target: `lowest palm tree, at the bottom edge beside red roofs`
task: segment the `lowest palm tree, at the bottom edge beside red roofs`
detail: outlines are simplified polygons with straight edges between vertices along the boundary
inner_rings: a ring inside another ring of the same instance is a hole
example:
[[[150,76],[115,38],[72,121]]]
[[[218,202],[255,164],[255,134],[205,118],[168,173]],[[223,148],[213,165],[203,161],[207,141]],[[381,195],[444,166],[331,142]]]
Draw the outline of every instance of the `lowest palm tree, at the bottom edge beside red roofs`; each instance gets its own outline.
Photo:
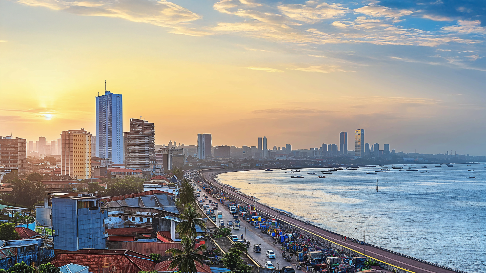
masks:
[[[180,224],[179,224],[180,225]],[[169,269],[180,271],[184,273],[197,273],[196,262],[203,264],[206,256],[200,254],[206,250],[206,244],[201,244],[194,248],[194,240],[185,235],[181,238],[182,250],[178,248],[171,248],[165,251],[166,254],[171,254]]]

